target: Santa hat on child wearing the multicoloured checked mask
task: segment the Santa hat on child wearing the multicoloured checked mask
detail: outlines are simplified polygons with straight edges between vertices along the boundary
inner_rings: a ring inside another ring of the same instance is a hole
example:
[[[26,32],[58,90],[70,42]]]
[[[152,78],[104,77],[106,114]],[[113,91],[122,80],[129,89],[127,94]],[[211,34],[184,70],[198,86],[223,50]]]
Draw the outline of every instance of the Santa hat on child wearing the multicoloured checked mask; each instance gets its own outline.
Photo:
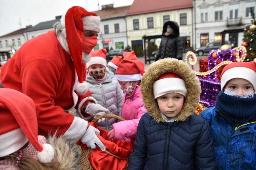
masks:
[[[90,61],[86,63],[87,69],[93,64],[101,64],[107,67],[106,53],[105,49],[91,51]]]

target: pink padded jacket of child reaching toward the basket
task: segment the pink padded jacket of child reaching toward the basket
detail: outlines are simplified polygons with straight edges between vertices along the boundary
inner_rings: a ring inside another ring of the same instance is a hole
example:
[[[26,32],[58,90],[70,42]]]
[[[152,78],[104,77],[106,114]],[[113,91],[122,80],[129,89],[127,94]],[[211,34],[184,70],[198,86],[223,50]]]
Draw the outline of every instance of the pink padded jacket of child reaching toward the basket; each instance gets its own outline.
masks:
[[[124,95],[122,102],[121,117],[125,121],[113,124],[115,130],[115,138],[122,140],[126,137],[135,137],[137,134],[137,126],[141,116],[147,112],[141,100],[140,86],[136,85],[130,96]]]

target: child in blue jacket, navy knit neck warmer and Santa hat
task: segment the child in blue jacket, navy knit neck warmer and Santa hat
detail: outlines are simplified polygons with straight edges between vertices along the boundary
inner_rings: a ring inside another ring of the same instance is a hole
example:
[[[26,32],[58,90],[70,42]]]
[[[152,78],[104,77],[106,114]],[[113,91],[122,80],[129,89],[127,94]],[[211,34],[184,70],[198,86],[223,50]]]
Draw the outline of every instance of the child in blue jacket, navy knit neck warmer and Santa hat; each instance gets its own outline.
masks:
[[[256,169],[255,89],[254,61],[228,64],[216,106],[200,114],[210,124],[219,170]]]

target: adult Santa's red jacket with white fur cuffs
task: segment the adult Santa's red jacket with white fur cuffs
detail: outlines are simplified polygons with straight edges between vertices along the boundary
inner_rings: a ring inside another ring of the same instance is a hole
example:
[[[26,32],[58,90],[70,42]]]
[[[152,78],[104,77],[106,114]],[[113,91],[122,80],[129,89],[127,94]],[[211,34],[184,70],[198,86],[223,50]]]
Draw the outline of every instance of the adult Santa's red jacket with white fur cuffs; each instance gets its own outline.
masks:
[[[85,80],[86,72],[83,75]],[[90,92],[79,95],[74,91],[74,64],[53,31],[25,42],[1,67],[0,79],[4,88],[18,90],[34,100],[39,135],[57,131],[74,143],[85,133],[88,122],[67,111],[74,107],[81,110],[93,98]]]

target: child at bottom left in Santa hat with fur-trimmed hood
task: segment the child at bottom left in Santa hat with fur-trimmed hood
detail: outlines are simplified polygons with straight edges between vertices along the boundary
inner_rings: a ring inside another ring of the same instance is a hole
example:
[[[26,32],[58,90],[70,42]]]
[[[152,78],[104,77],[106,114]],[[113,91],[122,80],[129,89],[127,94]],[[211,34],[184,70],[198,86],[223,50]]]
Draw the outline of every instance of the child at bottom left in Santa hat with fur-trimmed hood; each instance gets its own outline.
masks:
[[[0,88],[0,124],[0,170],[79,168],[78,148],[64,138],[37,136],[35,104],[25,94]]]

